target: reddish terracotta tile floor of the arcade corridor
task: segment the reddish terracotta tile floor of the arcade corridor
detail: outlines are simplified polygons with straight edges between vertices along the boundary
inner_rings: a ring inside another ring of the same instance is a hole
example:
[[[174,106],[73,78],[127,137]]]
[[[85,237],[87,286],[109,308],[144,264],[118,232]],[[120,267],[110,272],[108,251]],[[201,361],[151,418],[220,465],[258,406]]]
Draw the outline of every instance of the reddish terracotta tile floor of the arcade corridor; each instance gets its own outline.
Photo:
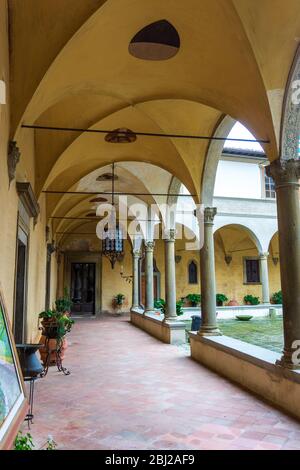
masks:
[[[36,384],[37,446],[51,434],[60,449],[300,449],[300,423],[128,318],[79,320],[69,343],[71,375]]]

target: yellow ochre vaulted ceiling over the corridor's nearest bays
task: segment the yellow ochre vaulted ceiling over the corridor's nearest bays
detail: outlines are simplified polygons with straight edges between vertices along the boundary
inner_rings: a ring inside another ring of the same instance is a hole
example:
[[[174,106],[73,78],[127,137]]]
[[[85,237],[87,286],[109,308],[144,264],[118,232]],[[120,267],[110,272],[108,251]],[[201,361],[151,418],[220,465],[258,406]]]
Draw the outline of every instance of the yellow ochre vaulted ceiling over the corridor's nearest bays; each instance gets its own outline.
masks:
[[[132,38],[163,19],[179,34],[177,54],[133,57]],[[9,20],[12,137],[34,139],[37,195],[73,188],[112,161],[136,161],[175,175],[199,199],[209,141],[111,144],[103,134],[22,123],[211,136],[230,115],[278,158],[278,96],[299,43],[298,0],[10,0]],[[60,198],[51,201],[55,210]]]

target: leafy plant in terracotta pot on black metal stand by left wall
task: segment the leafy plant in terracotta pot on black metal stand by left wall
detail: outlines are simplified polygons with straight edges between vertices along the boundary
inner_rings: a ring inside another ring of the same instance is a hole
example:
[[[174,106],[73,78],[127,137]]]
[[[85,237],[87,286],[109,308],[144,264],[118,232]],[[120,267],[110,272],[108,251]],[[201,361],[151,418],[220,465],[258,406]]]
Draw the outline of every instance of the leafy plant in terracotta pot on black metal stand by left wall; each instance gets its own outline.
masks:
[[[72,320],[68,314],[58,312],[56,310],[46,310],[41,312],[39,314],[39,318],[41,319],[42,324],[42,336],[39,343],[44,345],[44,347],[40,349],[41,360],[45,366],[48,356],[48,347],[52,351],[50,354],[50,365],[55,364],[55,350],[57,348],[60,348],[61,359],[65,356],[65,350],[67,349],[65,336],[71,331],[74,320]]]

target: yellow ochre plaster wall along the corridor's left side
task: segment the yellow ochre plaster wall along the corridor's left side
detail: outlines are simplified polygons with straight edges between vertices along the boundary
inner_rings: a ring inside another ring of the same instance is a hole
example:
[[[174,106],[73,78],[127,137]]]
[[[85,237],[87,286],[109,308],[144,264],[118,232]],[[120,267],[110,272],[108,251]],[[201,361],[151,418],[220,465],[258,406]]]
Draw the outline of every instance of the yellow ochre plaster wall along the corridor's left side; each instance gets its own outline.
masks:
[[[8,16],[7,2],[0,1],[0,79],[6,84],[6,104],[0,105],[0,284],[7,306],[8,316],[13,323],[15,263],[18,220],[18,194],[16,181],[28,181],[35,188],[35,152],[34,134],[32,131],[20,131],[17,136],[10,135],[10,90],[9,90],[9,57],[8,57]],[[17,165],[16,178],[9,186],[7,171],[7,149],[9,140],[17,140],[21,152]],[[28,286],[27,286],[27,335],[25,341],[36,341],[40,336],[37,315],[45,308],[46,286],[46,220],[45,201],[39,199],[40,215],[34,226],[30,220],[28,250]],[[56,277],[55,255],[52,255],[52,282]],[[56,296],[56,288],[51,289],[51,300]]]

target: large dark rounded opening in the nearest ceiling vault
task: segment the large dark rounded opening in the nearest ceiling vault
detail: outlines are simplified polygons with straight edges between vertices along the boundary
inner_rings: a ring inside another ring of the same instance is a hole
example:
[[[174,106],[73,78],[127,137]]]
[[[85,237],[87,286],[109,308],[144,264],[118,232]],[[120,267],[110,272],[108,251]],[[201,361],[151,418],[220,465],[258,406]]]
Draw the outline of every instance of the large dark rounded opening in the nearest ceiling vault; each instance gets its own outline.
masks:
[[[171,59],[179,48],[179,34],[167,20],[155,21],[145,26],[129,44],[130,54],[145,60]]]

